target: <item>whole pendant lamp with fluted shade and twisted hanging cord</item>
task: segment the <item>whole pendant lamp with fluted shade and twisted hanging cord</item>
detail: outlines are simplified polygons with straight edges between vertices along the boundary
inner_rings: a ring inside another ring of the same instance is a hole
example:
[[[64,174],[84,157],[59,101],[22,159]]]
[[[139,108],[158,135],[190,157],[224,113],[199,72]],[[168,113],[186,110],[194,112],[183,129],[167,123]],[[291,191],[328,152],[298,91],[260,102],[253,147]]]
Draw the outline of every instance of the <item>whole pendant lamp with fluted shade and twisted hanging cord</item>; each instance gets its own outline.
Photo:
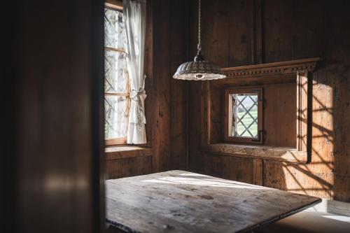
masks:
[[[214,80],[226,78],[221,73],[220,66],[217,64],[207,62],[202,53],[201,47],[201,0],[198,1],[198,46],[197,55],[193,62],[185,62],[179,66],[173,78],[181,80]]]

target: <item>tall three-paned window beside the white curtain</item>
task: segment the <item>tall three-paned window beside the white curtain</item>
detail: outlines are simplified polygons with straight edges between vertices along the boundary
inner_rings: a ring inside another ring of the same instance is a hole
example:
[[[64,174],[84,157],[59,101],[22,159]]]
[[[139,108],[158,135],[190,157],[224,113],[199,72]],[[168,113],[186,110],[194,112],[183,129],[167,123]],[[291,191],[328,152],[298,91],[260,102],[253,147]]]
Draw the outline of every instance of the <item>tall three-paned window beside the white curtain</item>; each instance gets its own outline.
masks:
[[[104,10],[104,108],[106,145],[126,143],[130,112],[130,79],[127,73],[123,13]]]

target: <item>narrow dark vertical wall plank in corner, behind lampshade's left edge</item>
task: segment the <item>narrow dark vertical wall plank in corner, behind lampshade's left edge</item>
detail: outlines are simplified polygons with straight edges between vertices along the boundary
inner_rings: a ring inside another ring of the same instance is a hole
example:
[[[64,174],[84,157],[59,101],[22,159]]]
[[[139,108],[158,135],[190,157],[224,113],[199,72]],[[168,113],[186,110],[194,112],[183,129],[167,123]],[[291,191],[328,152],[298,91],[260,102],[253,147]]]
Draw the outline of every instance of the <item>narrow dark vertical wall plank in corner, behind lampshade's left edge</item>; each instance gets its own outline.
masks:
[[[187,141],[188,141],[188,83],[172,78],[179,64],[188,59],[188,15],[187,6],[183,1],[170,1],[170,70],[169,79],[171,81],[170,95],[170,132],[171,132],[171,158],[170,169],[186,169]],[[181,12],[186,17],[179,17]],[[179,49],[181,48],[181,49]],[[173,72],[173,73],[172,73]]]

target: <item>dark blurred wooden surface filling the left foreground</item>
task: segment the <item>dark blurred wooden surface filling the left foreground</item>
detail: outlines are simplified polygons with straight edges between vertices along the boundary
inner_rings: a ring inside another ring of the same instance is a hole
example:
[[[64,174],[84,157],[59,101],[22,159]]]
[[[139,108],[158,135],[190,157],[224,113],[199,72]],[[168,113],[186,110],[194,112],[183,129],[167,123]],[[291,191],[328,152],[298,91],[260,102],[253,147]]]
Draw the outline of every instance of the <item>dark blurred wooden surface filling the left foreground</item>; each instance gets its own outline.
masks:
[[[1,6],[1,232],[104,228],[103,4]]]

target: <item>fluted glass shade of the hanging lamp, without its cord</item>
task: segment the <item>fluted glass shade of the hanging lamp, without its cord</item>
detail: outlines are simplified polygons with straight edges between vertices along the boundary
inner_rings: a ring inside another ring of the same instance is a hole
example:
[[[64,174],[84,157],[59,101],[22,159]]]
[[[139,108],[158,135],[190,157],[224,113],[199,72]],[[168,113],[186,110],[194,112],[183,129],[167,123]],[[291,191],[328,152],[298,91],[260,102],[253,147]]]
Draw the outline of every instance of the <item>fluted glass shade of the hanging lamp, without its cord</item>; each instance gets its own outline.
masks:
[[[173,78],[181,80],[214,80],[226,78],[218,65],[204,60],[185,62],[179,66]]]

